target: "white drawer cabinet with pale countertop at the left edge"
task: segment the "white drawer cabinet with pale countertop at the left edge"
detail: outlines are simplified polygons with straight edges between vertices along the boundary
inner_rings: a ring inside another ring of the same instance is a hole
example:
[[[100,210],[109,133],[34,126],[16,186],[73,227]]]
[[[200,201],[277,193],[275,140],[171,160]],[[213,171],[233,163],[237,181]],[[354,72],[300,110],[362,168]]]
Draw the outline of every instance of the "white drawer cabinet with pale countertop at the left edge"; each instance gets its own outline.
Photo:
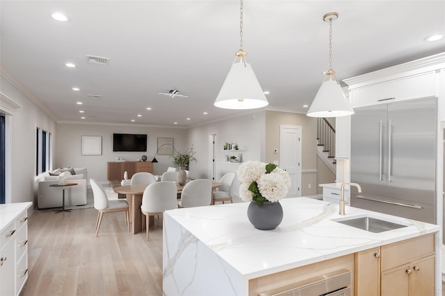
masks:
[[[19,295],[28,279],[27,209],[31,205],[0,205],[0,295]]]

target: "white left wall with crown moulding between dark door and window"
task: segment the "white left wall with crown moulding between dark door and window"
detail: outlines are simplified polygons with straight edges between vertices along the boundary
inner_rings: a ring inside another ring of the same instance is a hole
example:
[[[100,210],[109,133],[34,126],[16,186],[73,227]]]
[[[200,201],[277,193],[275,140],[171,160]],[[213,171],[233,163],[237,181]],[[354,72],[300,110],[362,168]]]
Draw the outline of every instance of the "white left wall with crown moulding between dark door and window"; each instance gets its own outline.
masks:
[[[30,101],[18,87],[0,76],[0,92],[22,105],[12,117],[12,148],[10,168],[10,197],[7,202],[35,202],[35,130],[37,127],[53,134],[56,122]],[[1,107],[0,107],[1,109]],[[8,145],[8,143],[7,143]]]

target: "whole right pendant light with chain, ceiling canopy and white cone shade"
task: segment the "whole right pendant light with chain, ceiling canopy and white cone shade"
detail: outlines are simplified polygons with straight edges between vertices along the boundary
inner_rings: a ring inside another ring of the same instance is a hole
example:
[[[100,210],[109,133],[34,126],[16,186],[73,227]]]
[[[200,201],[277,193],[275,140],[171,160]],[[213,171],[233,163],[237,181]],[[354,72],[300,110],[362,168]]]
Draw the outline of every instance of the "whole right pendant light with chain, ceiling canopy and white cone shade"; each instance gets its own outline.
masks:
[[[307,116],[339,117],[354,114],[353,107],[346,100],[335,71],[332,70],[332,21],[338,17],[337,12],[330,12],[323,16],[323,21],[329,21],[329,70],[325,73],[323,83],[307,111]]]

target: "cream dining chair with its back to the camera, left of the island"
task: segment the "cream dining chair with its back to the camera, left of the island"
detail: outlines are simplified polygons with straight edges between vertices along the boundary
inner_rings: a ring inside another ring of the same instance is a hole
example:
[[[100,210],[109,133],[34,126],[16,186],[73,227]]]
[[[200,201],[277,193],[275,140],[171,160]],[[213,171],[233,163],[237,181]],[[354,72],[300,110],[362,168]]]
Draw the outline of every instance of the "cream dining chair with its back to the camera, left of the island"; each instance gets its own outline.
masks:
[[[142,195],[142,205],[140,210],[147,216],[147,241],[149,216],[163,216],[163,212],[168,209],[177,209],[177,186],[175,182],[161,181],[150,184]]]

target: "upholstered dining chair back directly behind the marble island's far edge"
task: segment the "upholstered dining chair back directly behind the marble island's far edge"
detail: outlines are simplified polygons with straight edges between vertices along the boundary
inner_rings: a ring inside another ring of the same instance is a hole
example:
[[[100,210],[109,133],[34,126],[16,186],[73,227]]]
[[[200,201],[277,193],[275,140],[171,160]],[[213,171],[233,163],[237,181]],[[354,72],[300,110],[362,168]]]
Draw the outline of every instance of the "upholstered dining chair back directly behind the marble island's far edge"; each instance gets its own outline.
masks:
[[[191,180],[184,185],[179,207],[201,207],[211,204],[211,181],[207,179]]]

